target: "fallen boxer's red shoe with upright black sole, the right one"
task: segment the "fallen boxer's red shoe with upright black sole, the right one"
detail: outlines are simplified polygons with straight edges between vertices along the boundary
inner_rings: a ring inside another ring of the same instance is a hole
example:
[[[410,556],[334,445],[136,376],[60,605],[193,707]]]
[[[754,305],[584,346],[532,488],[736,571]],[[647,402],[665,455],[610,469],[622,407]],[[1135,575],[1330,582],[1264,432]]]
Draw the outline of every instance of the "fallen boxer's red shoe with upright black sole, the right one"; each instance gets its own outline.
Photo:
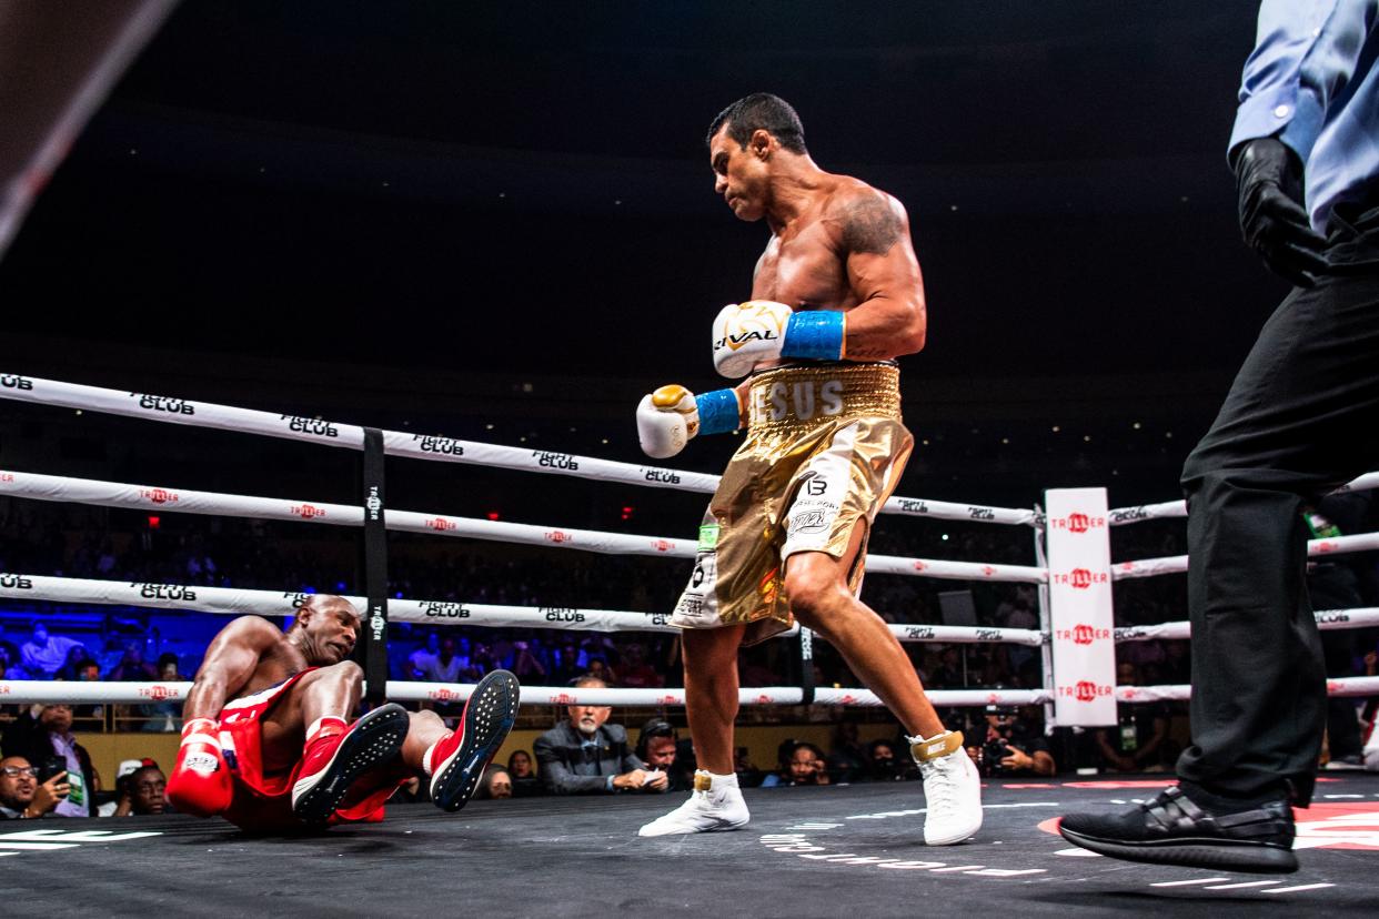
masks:
[[[459,727],[432,750],[430,792],[437,807],[455,812],[469,803],[484,766],[517,721],[520,692],[517,678],[506,670],[495,670],[474,686]]]

